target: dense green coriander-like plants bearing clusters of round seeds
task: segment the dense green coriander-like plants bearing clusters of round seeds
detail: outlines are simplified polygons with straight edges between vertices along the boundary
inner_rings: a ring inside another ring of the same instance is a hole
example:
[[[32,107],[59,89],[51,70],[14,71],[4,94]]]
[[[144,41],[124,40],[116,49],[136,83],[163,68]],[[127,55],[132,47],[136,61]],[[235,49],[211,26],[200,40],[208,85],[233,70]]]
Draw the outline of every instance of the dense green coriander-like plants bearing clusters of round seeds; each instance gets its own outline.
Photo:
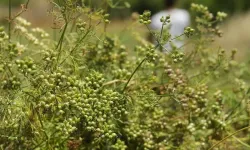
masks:
[[[173,45],[162,53],[178,37],[150,32],[156,45],[135,36],[130,49],[105,32],[106,8],[51,4],[58,39],[20,17],[13,31],[0,30],[1,149],[209,149],[217,142],[226,149],[228,133],[248,128],[248,66],[234,60],[235,50],[210,48],[225,13],[193,4],[196,26],[178,36],[189,38],[191,52]],[[148,26],[150,15],[134,26]],[[161,19],[164,31],[170,17]],[[230,148],[249,146],[249,137],[238,140]]]

